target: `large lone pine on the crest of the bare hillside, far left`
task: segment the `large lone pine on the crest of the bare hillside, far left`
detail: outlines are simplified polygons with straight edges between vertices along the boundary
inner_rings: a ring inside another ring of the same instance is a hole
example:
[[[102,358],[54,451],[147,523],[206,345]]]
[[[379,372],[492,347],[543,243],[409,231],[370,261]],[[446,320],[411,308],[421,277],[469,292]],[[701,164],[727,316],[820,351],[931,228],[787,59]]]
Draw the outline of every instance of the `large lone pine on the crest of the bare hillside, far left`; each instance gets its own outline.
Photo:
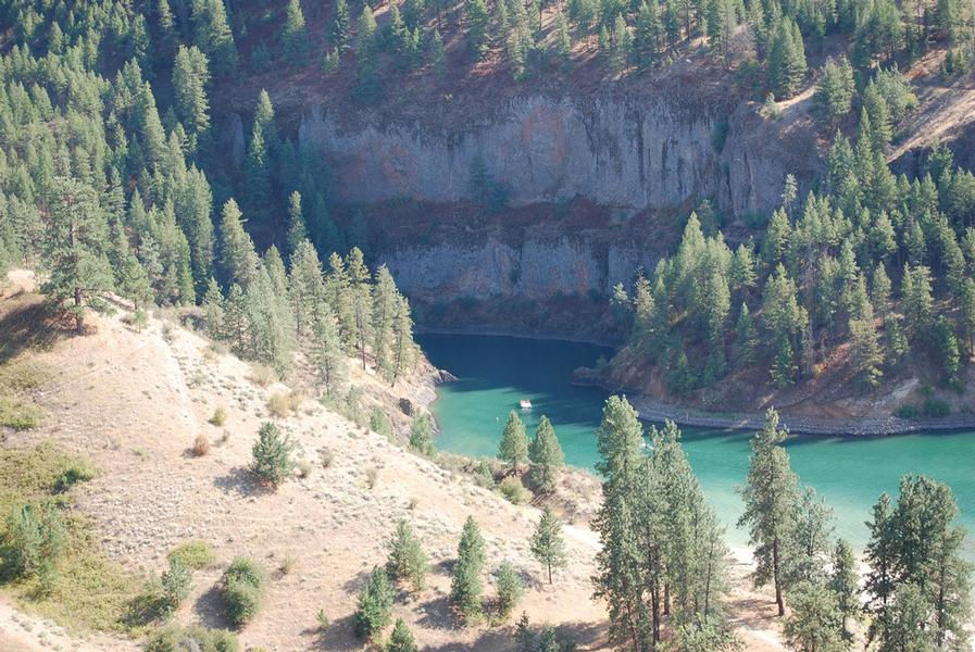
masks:
[[[42,291],[57,305],[71,301],[66,310],[82,334],[85,308],[100,308],[99,294],[112,289],[105,216],[89,186],[54,177],[47,217],[42,253],[50,273]]]

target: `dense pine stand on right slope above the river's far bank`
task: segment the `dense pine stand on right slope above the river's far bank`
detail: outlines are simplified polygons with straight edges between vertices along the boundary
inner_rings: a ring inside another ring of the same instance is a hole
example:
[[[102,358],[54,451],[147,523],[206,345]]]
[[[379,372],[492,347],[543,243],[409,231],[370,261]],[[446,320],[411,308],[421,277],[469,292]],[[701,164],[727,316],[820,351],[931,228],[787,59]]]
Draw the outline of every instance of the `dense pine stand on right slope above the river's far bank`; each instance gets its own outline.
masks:
[[[787,387],[848,343],[864,390],[922,361],[961,388],[975,352],[975,176],[943,147],[920,178],[895,176],[885,152],[913,96],[891,71],[863,98],[855,140],[837,134],[804,201],[786,178],[759,247],[733,250],[704,202],[674,255],[632,292],[616,286],[612,310],[629,340],[614,363],[659,368],[674,394],[757,366]]]

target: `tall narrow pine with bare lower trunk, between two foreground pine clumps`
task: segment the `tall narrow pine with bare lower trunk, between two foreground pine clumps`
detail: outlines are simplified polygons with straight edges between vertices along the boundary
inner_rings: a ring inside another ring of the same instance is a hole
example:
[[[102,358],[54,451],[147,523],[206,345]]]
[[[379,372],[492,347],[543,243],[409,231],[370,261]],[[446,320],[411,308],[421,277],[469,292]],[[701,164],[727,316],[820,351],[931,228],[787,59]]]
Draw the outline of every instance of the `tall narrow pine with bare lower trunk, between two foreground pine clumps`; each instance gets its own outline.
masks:
[[[788,431],[778,427],[778,414],[770,408],[764,429],[752,438],[748,478],[740,490],[745,513],[738,519],[739,527],[749,527],[750,543],[754,547],[755,586],[773,584],[779,616],[785,615],[783,567],[788,554],[785,547],[798,491],[789,455],[782,447],[786,437]]]

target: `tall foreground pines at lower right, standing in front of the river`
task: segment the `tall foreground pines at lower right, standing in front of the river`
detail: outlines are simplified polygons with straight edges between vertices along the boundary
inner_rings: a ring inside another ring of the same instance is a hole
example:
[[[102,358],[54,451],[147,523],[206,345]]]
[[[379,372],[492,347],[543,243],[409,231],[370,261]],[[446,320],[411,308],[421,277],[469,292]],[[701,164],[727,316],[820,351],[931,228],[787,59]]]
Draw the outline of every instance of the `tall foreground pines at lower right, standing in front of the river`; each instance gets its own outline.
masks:
[[[834,538],[833,512],[802,487],[770,410],[752,438],[739,492],[755,587],[771,587],[785,642],[800,652],[850,650],[855,622],[883,652],[960,650],[967,644],[972,570],[951,489],[904,476],[899,496],[880,496],[868,523],[862,582],[850,544]],[[602,543],[593,577],[609,606],[611,636],[635,652],[740,648],[723,603],[728,589],[724,529],[708,505],[673,423],[649,432],[636,411],[611,397],[597,430],[603,502],[593,523]],[[667,626],[668,640],[662,636]]]

